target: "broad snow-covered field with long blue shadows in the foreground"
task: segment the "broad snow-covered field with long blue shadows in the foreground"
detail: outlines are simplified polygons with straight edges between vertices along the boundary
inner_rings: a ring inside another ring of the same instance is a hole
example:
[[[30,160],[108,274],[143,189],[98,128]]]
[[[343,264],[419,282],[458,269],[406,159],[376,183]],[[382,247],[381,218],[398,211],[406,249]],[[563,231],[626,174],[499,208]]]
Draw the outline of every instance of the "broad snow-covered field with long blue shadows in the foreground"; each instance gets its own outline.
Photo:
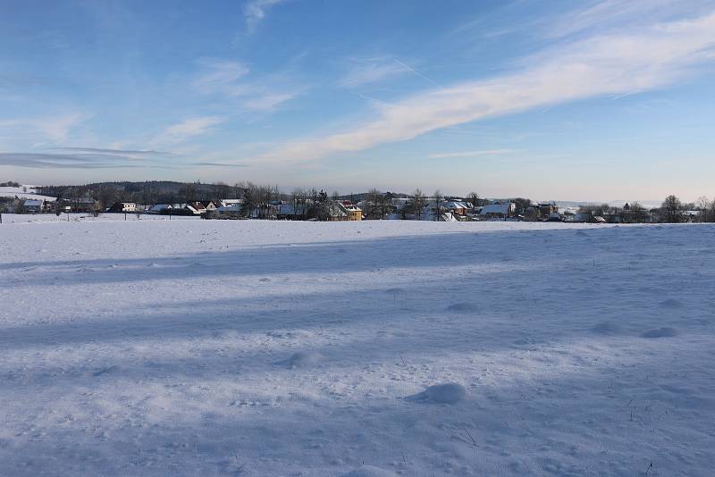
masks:
[[[2,475],[715,472],[711,226],[55,219],[0,225]]]

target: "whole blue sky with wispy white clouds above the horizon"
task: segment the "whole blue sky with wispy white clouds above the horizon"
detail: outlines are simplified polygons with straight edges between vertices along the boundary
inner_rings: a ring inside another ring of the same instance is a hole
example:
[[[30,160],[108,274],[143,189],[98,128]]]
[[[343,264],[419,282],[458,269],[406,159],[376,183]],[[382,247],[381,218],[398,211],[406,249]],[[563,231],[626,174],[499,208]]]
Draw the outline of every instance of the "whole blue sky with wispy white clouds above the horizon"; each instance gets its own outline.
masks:
[[[0,180],[715,196],[715,1],[0,4]]]

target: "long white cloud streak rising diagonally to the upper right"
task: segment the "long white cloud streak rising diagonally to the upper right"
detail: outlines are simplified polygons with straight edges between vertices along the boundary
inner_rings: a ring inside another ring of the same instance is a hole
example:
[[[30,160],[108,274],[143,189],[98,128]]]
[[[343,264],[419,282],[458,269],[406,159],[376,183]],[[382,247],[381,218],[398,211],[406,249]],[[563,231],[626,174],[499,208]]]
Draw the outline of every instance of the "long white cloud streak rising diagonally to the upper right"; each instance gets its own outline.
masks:
[[[586,38],[536,54],[516,73],[380,105],[373,121],[345,132],[290,142],[255,160],[311,161],[534,107],[662,88],[711,60],[713,46],[715,13],[652,25],[637,33]]]

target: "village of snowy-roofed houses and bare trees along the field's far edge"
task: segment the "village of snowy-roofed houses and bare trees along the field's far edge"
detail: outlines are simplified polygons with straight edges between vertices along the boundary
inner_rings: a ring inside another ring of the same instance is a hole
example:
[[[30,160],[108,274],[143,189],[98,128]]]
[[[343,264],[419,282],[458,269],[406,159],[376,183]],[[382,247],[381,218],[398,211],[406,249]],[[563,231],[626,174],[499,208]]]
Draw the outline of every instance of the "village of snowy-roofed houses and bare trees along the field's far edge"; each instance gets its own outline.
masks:
[[[12,185],[8,185],[12,184]],[[51,189],[52,190],[52,189]],[[57,189],[55,189],[57,190]],[[62,194],[64,189],[59,189]],[[72,190],[72,188],[69,188]],[[417,189],[411,195],[379,192],[331,197],[324,190],[294,189],[282,194],[277,188],[255,186],[214,188],[216,196],[205,200],[141,203],[130,200],[108,201],[98,194],[81,197],[52,197],[46,188],[21,186],[13,182],[0,185],[0,213],[123,213],[125,216],[164,215],[200,217],[206,220],[280,220],[342,222],[362,220],[408,220],[433,222],[581,222],[581,223],[657,223],[713,222],[715,208],[705,198],[698,204],[683,204],[670,196],[660,207],[646,208],[638,202],[618,205],[585,203],[563,206],[558,202],[532,202],[525,198],[489,199],[472,192],[467,197],[444,196],[435,191],[426,196]],[[220,198],[219,194],[233,198]],[[205,196],[206,196],[205,195]],[[175,197],[172,197],[175,198]],[[126,217],[125,217],[126,218]]]

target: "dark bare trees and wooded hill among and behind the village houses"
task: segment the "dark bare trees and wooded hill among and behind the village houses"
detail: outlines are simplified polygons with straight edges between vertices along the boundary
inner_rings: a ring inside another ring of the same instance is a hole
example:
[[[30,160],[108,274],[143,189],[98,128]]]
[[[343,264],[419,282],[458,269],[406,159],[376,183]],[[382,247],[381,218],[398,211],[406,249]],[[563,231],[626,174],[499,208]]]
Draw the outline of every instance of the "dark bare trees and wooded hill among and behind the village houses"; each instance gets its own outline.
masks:
[[[5,187],[21,187],[18,182],[6,181],[0,184]],[[293,188],[290,193],[283,193],[278,186],[255,184],[241,181],[233,185],[224,182],[211,184],[175,181],[144,181],[144,182],[101,182],[79,186],[45,186],[38,188],[38,194],[57,197],[72,203],[80,199],[93,199],[104,210],[115,202],[134,202],[142,205],[183,204],[190,202],[213,201],[218,204],[222,199],[242,199],[241,209],[247,216],[267,218],[271,213],[271,205],[276,203],[289,204],[295,213],[307,218],[320,218],[327,213],[329,198],[332,200],[349,199],[360,202],[363,214],[368,219],[385,219],[393,213],[399,213],[400,218],[421,220],[425,207],[431,207],[435,220],[439,220],[444,212],[444,204],[450,200],[464,200],[474,207],[487,204],[489,201],[470,192],[465,197],[445,196],[437,189],[431,195],[416,188],[411,194],[381,192],[371,188],[366,193],[341,196],[337,191],[330,197],[324,190],[316,188]],[[395,205],[395,199],[402,199],[400,207]],[[538,205],[531,199],[517,197],[509,199],[515,204],[516,214],[525,220],[538,220]],[[692,216],[688,211],[696,211]],[[663,200],[660,207],[647,209],[638,202],[629,205],[629,210],[608,204],[582,205],[578,213],[588,216],[614,216],[627,213],[629,222],[715,222],[715,200],[700,197],[694,203],[683,203],[678,197],[670,195]]]

